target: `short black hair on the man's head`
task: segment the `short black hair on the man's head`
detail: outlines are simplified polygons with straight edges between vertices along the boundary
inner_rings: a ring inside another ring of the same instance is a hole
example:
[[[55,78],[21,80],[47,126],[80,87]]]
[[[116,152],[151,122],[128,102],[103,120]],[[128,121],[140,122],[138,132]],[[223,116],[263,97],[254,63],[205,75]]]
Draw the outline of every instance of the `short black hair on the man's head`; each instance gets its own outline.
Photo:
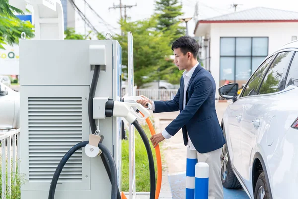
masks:
[[[187,52],[191,52],[195,58],[198,56],[199,44],[190,36],[182,36],[174,41],[172,44],[172,50],[176,48],[180,48],[183,55],[186,55]]]

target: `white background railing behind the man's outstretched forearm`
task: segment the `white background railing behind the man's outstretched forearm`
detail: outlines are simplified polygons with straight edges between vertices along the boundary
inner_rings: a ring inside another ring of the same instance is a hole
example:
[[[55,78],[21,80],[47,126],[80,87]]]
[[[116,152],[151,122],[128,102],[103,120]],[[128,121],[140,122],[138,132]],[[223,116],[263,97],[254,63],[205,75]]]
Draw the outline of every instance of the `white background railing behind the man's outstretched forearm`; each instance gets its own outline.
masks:
[[[173,100],[178,89],[136,89],[136,96],[143,95],[151,100]]]

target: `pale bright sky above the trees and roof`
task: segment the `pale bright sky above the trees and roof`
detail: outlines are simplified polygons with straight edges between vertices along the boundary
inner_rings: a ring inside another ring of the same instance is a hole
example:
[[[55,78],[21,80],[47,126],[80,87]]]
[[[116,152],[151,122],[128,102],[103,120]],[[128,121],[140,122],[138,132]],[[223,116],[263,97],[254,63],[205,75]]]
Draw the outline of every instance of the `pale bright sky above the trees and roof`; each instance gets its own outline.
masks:
[[[104,34],[120,33],[120,26],[118,20],[120,19],[120,9],[109,9],[113,4],[119,5],[119,0],[86,0],[90,6],[98,13],[98,15],[105,21],[103,22],[96,16],[88,7],[85,8],[83,0],[75,0],[75,3],[80,10],[86,15],[87,19],[92,23],[98,32]],[[131,21],[142,20],[149,18],[154,13],[155,0],[121,0],[123,5],[136,5],[127,9],[127,16]],[[182,18],[194,17],[195,4],[198,2],[199,19],[219,16],[223,14],[233,13],[234,8],[232,4],[239,4],[237,11],[250,9],[253,7],[268,7],[275,9],[283,9],[298,12],[298,2],[295,0],[180,0],[183,5],[184,15]],[[124,16],[124,9],[122,10]],[[85,23],[81,17],[76,14],[75,17],[76,31],[85,33]],[[191,36],[195,29],[195,21],[192,19],[188,22],[188,31]],[[87,27],[86,31],[90,30]]]

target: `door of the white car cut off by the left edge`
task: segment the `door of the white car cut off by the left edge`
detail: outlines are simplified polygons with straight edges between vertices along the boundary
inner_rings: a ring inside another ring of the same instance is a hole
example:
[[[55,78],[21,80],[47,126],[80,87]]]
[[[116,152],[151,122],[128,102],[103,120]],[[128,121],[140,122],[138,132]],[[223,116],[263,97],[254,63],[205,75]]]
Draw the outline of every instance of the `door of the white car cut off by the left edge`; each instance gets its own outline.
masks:
[[[0,83],[2,91],[8,90],[7,87]],[[0,95],[0,130],[11,129],[14,119],[14,97],[9,95]]]

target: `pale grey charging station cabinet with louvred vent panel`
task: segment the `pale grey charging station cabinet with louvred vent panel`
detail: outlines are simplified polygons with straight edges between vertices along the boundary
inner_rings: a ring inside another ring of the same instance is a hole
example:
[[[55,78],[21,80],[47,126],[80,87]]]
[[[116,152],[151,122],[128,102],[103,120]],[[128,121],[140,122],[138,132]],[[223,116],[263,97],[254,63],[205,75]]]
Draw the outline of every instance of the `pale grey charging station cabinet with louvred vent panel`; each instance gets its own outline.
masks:
[[[116,40],[20,40],[20,173],[22,199],[47,199],[62,157],[89,140],[88,98],[94,65],[100,64],[95,97],[121,99],[121,46]],[[93,100],[93,99],[92,99]],[[121,124],[96,120],[112,153],[121,190]],[[108,199],[111,183],[100,156],[83,149],[68,160],[55,199]]]

